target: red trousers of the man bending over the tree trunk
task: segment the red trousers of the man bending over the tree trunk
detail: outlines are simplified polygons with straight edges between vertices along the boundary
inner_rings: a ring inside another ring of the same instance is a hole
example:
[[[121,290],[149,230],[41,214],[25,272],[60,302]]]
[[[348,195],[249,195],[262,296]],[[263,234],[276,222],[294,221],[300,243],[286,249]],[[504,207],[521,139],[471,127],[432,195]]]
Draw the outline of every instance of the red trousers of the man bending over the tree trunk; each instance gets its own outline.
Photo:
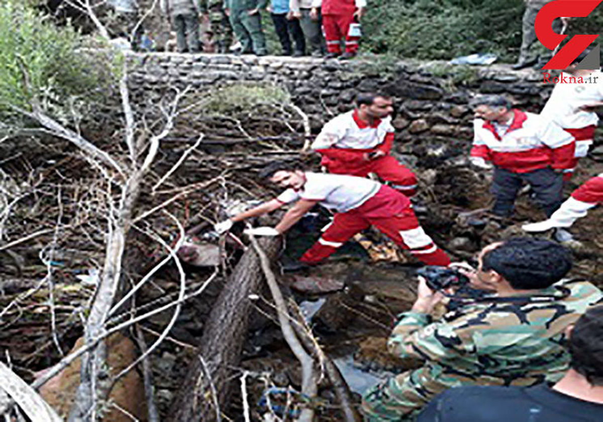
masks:
[[[444,265],[450,258],[434,244],[418,224],[410,201],[391,187],[382,186],[374,197],[345,213],[336,213],[323,235],[301,256],[300,261],[317,263],[370,225],[388,236],[400,248],[428,265]]]

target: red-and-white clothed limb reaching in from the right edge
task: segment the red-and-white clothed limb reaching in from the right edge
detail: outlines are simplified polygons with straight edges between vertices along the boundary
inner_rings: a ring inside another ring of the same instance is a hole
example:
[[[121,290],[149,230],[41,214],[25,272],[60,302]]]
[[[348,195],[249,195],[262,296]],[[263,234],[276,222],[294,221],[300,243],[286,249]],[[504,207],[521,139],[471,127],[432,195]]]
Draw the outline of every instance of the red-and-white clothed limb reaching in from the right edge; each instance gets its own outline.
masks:
[[[572,196],[545,221],[522,226],[529,232],[546,231],[551,228],[570,227],[578,218],[586,216],[588,210],[603,204],[603,173],[592,177],[572,192]]]

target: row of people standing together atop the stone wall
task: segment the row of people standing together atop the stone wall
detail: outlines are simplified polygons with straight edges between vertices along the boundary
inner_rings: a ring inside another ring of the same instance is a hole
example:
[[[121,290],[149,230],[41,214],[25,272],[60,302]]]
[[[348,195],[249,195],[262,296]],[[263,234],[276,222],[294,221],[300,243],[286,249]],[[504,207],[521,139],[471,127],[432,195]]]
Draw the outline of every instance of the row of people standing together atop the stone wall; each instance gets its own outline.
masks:
[[[366,0],[160,0],[178,52],[200,52],[199,19],[210,22],[210,49],[267,55],[260,11],[274,24],[281,55],[352,58],[361,37]],[[233,44],[233,34],[236,44]]]

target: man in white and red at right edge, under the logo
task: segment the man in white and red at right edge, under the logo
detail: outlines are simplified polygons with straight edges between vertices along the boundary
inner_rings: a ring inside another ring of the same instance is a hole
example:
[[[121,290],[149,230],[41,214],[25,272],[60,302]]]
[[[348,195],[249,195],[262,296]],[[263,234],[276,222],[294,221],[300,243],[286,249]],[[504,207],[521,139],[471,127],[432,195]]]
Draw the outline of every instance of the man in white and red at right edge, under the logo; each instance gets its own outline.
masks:
[[[576,69],[586,54],[579,55],[558,76],[559,83],[551,93],[545,107],[540,112],[543,118],[552,120],[572,134],[576,140],[576,152],[572,168],[566,170],[564,179],[572,177],[578,159],[586,157],[595,137],[595,128],[599,117],[596,107],[603,106],[603,73],[599,69]],[[547,72],[545,82],[553,82],[554,77]]]

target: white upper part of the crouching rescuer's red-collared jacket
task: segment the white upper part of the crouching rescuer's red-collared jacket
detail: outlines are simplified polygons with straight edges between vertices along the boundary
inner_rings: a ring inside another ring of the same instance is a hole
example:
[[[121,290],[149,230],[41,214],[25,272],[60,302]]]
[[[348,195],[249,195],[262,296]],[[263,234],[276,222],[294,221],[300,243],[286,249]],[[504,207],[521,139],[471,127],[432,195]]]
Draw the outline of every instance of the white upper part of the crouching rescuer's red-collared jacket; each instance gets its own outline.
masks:
[[[312,150],[335,148],[350,148],[352,150],[369,150],[383,143],[388,133],[393,133],[391,116],[380,120],[377,127],[370,127],[354,119],[354,110],[336,116],[327,122],[314,142]]]

